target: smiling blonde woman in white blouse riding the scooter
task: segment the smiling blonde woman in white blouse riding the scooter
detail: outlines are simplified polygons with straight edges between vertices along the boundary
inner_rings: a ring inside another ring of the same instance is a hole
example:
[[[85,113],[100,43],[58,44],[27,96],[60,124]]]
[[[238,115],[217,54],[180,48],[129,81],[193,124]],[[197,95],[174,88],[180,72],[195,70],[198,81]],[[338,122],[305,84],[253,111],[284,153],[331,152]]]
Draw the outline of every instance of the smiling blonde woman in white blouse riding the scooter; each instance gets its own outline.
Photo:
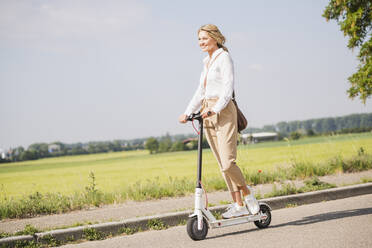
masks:
[[[231,193],[232,204],[223,218],[233,218],[259,212],[259,205],[236,165],[238,137],[236,107],[232,102],[234,91],[233,63],[224,46],[225,37],[217,26],[207,24],[198,30],[199,46],[208,56],[203,60],[204,68],[199,86],[186,111],[179,117],[186,123],[187,116],[199,111],[202,113],[206,137],[220,166],[222,176]],[[246,207],[241,197],[244,196]]]

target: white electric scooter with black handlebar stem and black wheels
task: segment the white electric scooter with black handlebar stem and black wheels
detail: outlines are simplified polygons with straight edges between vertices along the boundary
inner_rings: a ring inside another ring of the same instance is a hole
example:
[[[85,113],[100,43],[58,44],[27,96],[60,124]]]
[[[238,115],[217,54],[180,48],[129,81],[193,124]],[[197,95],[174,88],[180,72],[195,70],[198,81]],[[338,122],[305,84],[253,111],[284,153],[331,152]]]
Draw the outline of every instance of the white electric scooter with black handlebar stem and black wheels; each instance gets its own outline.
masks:
[[[199,121],[199,139],[198,139],[198,171],[195,188],[195,208],[194,213],[189,216],[187,221],[187,234],[193,240],[203,240],[208,234],[208,228],[221,228],[226,226],[254,222],[258,228],[266,228],[271,222],[271,208],[264,202],[259,202],[260,211],[255,215],[231,219],[216,219],[208,209],[208,206],[202,201],[203,189],[201,184],[202,174],[202,140],[203,140],[203,118],[199,113],[191,114],[187,121]]]

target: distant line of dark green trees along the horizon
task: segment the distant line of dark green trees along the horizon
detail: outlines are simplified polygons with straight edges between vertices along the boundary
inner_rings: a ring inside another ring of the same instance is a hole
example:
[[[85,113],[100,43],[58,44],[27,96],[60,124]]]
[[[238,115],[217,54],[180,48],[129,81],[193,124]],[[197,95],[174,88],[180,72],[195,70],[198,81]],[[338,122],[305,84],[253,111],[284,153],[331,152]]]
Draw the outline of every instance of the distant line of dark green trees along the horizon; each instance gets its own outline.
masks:
[[[279,122],[275,125],[265,125],[262,128],[249,127],[243,133],[277,132],[279,139],[288,137],[298,139],[301,136],[322,135],[328,133],[353,133],[372,131],[372,113],[352,114],[342,117],[318,118],[305,121]],[[151,154],[195,150],[198,141],[195,134],[170,135],[161,137],[140,138],[132,140],[114,140],[88,143],[65,144],[62,142],[34,143],[27,149],[22,146],[12,148],[5,159],[0,162],[15,162],[34,160],[39,158],[92,154],[104,152],[118,152],[147,149]],[[203,139],[203,148],[208,142]]]

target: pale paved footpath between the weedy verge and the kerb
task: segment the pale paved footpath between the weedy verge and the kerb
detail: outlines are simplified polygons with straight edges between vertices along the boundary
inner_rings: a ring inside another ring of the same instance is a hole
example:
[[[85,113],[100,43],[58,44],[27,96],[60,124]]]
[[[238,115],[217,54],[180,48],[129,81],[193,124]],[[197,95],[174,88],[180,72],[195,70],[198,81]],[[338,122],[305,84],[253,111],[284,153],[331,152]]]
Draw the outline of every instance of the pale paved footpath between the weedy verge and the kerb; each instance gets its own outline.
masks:
[[[320,177],[322,181],[334,183],[338,186],[345,184],[358,183],[362,178],[372,178],[372,170],[360,173],[337,174]],[[303,185],[302,181],[296,181],[296,186]],[[258,185],[255,192],[264,195],[272,191],[272,184]],[[228,192],[213,192],[208,194],[208,200],[214,205],[221,205],[221,201],[230,201]],[[119,221],[128,218],[149,216],[161,213],[176,212],[192,209],[194,196],[190,194],[185,197],[169,198],[162,200],[127,202],[125,204],[108,205],[101,208],[73,211],[66,214],[45,215],[29,219],[3,220],[0,222],[0,232],[16,232],[22,230],[27,224],[31,224],[38,229],[47,230],[50,228],[71,226],[76,223],[92,222],[101,223],[108,221]]]

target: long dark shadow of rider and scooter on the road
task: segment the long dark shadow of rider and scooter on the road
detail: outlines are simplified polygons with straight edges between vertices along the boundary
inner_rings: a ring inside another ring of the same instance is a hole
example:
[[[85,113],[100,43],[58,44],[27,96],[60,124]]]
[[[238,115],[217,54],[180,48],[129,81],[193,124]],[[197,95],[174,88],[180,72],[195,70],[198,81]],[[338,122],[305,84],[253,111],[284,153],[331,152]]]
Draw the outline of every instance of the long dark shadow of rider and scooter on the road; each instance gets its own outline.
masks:
[[[361,216],[361,215],[369,215],[369,214],[372,214],[372,208],[359,208],[359,209],[352,209],[352,210],[345,210],[345,211],[337,211],[337,212],[330,212],[330,213],[325,213],[325,214],[307,216],[307,217],[302,218],[301,220],[291,221],[291,222],[287,222],[287,223],[283,223],[279,225],[271,225],[268,228],[279,228],[283,226],[302,226],[302,225],[309,225],[309,224],[314,224],[314,223],[324,222],[324,221],[329,221],[329,220],[355,217],[355,216]],[[275,216],[273,216],[273,218],[275,218]],[[233,233],[224,233],[224,234],[217,235],[214,237],[207,237],[206,239],[222,238],[225,236],[256,232],[259,230],[260,229],[249,229],[249,230],[233,232]]]

